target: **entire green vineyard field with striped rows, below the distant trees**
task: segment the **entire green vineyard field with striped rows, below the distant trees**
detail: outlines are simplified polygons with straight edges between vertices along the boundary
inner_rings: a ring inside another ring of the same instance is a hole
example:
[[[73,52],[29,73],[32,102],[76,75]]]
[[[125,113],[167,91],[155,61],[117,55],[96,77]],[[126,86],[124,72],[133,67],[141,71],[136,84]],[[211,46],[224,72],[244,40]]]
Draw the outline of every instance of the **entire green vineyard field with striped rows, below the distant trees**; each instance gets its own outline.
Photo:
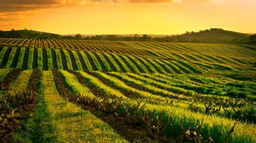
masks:
[[[256,142],[255,46],[4,38],[0,46],[0,141]]]

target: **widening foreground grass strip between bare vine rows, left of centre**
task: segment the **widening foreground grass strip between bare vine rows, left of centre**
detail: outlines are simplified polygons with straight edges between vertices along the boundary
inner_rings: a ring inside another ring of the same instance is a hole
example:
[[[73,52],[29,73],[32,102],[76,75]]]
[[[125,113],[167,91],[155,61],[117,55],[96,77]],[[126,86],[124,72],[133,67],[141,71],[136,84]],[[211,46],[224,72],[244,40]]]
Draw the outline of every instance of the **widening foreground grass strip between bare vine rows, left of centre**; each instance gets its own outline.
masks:
[[[127,142],[91,112],[60,98],[51,71],[44,71],[33,118],[14,142]]]

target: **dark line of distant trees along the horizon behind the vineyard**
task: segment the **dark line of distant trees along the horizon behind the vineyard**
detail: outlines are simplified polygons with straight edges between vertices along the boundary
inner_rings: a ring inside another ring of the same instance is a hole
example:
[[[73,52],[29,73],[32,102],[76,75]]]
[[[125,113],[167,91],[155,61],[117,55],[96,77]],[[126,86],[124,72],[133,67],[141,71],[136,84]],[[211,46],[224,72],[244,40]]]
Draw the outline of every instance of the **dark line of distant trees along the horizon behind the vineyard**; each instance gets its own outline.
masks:
[[[210,29],[220,30],[223,29]],[[203,32],[203,31],[199,31]],[[256,45],[256,35],[251,35],[249,39],[220,39],[220,38],[186,38],[184,35],[191,35],[195,32],[186,32],[182,35],[175,35],[171,37],[150,37],[148,35],[137,34],[133,36],[120,36],[120,35],[96,35],[83,37],[80,34],[75,36],[61,36],[52,33],[39,33],[32,30],[15,31],[0,31],[0,38],[21,38],[21,39],[66,39],[66,40],[100,40],[100,41],[152,41],[152,42],[179,42],[179,43],[222,43],[222,44],[251,44]]]

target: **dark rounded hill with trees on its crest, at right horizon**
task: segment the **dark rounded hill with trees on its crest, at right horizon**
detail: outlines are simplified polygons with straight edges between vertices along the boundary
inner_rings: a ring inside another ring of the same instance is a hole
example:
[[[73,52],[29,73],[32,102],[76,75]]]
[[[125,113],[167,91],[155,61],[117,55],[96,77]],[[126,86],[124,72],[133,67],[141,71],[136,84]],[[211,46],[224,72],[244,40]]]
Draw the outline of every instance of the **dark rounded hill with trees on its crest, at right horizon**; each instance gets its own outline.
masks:
[[[183,38],[192,39],[192,38],[200,38],[200,39],[211,39],[211,38],[219,38],[219,39],[248,39],[250,37],[249,34],[234,32],[234,31],[226,31],[223,29],[207,29],[201,30],[199,32],[186,32],[182,34]]]

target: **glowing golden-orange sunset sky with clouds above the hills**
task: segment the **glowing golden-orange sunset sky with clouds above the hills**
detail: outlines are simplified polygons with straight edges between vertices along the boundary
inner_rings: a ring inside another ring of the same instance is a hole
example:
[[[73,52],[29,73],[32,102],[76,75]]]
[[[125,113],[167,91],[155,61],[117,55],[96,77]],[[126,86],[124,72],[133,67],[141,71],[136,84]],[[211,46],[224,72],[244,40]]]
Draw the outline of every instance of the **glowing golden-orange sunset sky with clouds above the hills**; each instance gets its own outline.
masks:
[[[256,33],[256,0],[0,0],[0,30],[57,34]]]

